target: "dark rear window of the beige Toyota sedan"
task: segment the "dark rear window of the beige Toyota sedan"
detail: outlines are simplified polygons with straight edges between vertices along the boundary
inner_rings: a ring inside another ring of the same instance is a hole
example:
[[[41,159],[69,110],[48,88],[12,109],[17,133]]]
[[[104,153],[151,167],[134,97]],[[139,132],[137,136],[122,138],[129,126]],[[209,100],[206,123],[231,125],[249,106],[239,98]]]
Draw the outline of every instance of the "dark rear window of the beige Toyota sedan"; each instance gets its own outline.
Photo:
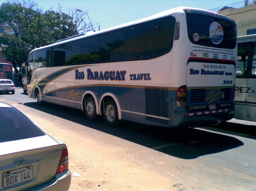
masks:
[[[13,107],[0,108],[0,142],[43,136],[45,133]]]

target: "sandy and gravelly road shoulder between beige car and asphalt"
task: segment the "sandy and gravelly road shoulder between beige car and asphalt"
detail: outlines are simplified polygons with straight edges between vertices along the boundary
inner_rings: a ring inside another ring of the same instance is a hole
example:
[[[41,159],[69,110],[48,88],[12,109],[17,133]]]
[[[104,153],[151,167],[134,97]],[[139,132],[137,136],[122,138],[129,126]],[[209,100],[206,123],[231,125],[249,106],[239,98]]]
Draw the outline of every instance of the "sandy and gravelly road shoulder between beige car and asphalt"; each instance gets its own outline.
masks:
[[[70,191],[252,191],[255,187],[254,177],[205,160],[202,164],[200,159],[169,156],[83,125],[72,130],[77,124],[63,119],[49,122],[37,116],[35,120],[68,146]]]

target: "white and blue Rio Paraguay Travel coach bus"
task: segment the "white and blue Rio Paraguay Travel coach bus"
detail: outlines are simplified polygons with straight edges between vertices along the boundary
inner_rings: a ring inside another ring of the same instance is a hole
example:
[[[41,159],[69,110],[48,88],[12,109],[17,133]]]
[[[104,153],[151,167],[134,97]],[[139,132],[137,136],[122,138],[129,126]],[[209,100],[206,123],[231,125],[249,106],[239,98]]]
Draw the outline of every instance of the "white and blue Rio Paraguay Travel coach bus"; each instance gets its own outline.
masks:
[[[198,127],[233,117],[236,59],[232,19],[179,7],[32,50],[27,91],[112,126]]]

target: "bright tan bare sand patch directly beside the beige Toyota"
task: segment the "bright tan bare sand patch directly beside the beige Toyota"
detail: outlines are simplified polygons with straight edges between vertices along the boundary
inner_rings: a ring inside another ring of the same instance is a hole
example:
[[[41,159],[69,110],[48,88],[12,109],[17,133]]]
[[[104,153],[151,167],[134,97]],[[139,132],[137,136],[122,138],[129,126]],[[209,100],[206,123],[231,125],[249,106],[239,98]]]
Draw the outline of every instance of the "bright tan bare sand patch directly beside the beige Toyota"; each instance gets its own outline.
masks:
[[[170,191],[182,187],[173,185],[166,177],[145,170],[145,166],[141,168],[117,156],[118,148],[102,147],[92,139],[84,139],[77,132],[50,128],[45,121],[41,123],[49,135],[68,146],[69,169],[72,173],[70,191]]]

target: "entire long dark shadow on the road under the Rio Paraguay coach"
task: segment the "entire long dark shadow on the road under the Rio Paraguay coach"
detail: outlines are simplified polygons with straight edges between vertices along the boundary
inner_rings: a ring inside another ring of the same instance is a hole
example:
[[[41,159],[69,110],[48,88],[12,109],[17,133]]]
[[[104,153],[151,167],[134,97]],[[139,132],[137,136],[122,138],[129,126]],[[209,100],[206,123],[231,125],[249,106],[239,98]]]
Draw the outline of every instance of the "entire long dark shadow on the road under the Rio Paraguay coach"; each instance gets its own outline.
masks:
[[[244,144],[232,136],[198,128],[170,129],[124,121],[118,127],[110,127],[101,118],[87,120],[81,110],[51,103],[24,105],[182,159],[219,153]]]

